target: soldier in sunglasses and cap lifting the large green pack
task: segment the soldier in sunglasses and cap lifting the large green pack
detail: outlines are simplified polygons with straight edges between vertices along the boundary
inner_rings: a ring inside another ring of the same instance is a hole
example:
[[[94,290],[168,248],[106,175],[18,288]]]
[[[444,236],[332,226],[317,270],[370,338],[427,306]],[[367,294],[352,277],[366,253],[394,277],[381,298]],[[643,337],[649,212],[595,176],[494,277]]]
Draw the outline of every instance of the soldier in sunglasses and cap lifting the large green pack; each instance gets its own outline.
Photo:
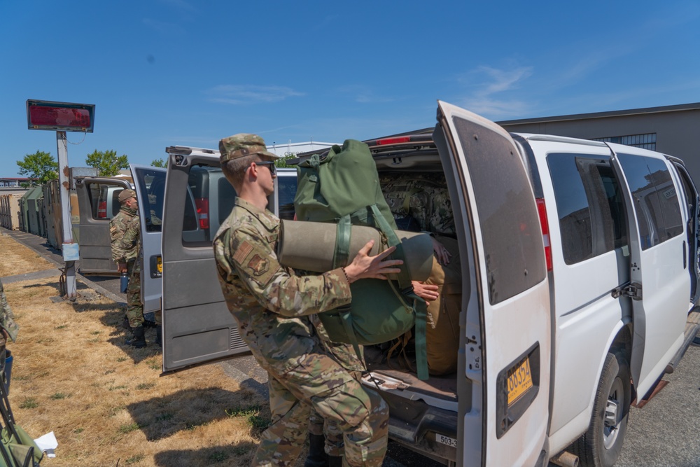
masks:
[[[236,134],[219,142],[221,165],[238,197],[214,239],[218,278],[241,338],[267,370],[272,423],[262,433],[254,466],[290,466],[303,447],[311,407],[344,435],[344,466],[381,466],[388,437],[388,406],[363,389],[323,348],[309,315],[346,305],[349,284],[386,279],[400,260],[393,249],[317,276],[297,276],[277,262],[279,218],[267,211],[274,191],[274,160],[262,138]],[[267,166],[267,167],[263,167]],[[341,459],[331,459],[339,465]]]

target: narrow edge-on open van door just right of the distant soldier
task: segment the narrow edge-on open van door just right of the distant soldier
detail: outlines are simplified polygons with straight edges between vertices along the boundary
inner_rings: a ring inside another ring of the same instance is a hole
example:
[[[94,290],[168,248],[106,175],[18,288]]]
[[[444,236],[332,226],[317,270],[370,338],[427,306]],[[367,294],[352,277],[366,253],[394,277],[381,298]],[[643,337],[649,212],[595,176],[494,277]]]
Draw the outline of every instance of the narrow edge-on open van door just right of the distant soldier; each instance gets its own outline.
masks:
[[[139,200],[141,218],[141,302],[144,313],[160,309],[163,272],[161,231],[163,197],[165,195],[165,169],[144,165],[131,165],[134,188]]]

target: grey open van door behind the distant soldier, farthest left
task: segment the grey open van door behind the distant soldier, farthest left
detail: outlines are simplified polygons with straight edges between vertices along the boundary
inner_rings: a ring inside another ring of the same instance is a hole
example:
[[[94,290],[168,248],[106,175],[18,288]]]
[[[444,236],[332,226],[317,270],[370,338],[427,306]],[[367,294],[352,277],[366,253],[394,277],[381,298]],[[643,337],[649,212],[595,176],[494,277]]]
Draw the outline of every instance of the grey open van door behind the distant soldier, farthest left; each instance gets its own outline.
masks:
[[[119,192],[131,188],[126,180],[76,178],[80,211],[80,273],[117,274],[112,260],[109,221],[119,212]]]

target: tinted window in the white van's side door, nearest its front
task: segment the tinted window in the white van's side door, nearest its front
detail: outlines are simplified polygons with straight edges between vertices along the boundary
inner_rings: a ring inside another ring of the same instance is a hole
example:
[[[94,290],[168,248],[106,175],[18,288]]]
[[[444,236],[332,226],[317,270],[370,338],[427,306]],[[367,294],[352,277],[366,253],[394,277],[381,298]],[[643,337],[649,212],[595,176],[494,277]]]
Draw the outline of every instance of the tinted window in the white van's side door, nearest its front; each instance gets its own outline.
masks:
[[[617,158],[633,196],[642,249],[682,234],[678,193],[666,162],[624,153]]]

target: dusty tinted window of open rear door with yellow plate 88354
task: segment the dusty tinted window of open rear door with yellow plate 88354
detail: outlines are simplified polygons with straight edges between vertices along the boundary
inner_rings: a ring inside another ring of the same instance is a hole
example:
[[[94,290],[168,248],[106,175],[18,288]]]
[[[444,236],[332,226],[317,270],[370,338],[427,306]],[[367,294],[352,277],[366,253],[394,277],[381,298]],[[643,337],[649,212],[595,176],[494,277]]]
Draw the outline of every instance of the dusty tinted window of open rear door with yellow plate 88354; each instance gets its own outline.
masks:
[[[495,305],[545,279],[540,220],[530,181],[510,141],[495,133],[479,134],[476,140],[473,124],[463,118],[454,118],[454,125],[469,155],[489,300]]]

